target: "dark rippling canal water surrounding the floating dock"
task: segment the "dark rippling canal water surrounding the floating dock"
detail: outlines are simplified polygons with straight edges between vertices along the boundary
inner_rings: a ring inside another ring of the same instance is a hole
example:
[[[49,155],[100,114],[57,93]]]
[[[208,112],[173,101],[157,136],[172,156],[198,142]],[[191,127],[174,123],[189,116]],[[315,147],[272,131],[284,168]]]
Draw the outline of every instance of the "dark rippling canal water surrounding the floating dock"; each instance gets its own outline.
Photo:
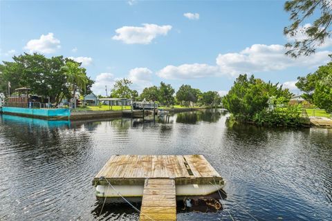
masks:
[[[332,130],[231,125],[221,110],[142,122],[0,116],[0,220],[138,220],[95,200],[114,154],[203,154],[227,180],[223,210],[178,220],[332,220]]]

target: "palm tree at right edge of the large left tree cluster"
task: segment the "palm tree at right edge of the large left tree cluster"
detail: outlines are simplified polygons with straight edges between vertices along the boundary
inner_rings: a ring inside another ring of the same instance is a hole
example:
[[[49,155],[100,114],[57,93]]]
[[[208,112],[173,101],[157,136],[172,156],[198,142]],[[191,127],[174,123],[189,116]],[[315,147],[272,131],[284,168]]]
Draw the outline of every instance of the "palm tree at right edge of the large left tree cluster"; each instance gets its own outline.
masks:
[[[62,67],[66,75],[66,81],[73,90],[74,108],[76,108],[75,93],[76,90],[85,92],[88,78],[86,77],[85,68],[80,68],[80,63],[75,61],[66,61],[66,65]]]

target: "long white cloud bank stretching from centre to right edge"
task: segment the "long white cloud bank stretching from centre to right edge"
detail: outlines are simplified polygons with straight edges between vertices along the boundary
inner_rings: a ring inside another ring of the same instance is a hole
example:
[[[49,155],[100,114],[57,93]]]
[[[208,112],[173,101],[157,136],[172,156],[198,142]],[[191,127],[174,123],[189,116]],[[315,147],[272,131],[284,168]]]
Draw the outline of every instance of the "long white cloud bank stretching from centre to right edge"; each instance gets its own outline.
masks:
[[[331,51],[322,50],[309,57],[297,59],[285,55],[284,46],[254,44],[240,52],[219,54],[216,65],[183,64],[166,66],[157,75],[165,79],[194,79],[200,77],[262,73],[291,67],[317,68],[330,61]]]

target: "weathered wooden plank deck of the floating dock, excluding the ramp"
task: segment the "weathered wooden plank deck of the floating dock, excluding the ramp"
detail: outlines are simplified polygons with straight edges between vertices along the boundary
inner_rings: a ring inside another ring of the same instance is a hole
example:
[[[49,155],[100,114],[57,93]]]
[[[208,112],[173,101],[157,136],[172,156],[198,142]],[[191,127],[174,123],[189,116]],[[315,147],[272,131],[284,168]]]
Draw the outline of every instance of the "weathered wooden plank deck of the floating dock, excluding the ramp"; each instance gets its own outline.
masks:
[[[100,177],[119,185],[143,184],[147,178],[174,179],[176,184],[222,180],[203,155],[112,155],[93,185],[100,184]]]

